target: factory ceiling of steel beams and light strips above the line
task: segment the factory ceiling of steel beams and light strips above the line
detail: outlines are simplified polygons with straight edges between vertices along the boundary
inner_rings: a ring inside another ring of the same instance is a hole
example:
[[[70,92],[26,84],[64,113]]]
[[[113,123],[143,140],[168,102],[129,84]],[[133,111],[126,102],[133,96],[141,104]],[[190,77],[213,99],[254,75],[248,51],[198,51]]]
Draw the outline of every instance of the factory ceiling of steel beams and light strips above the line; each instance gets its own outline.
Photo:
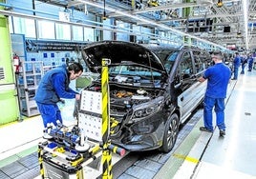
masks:
[[[106,18],[173,30],[238,50],[256,49],[256,0],[42,0]]]

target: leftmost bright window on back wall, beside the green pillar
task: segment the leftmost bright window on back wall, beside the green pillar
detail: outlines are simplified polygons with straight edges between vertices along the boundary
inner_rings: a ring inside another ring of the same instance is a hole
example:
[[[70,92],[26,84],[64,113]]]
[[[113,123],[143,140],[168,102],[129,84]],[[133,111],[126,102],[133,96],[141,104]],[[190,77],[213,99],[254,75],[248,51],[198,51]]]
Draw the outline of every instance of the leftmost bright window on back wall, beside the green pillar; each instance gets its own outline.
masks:
[[[13,17],[13,30],[14,33],[25,34],[26,37],[35,38],[34,20],[24,19],[20,17]]]

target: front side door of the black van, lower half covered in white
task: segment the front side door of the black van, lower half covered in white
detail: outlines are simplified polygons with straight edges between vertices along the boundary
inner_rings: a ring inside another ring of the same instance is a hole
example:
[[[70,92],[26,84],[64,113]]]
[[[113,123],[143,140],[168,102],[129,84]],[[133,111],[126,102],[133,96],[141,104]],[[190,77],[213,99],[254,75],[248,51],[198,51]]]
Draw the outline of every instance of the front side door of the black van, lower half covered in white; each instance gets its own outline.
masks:
[[[197,79],[210,64],[210,55],[204,50],[185,51],[181,56],[178,70],[181,76],[181,90],[178,95],[181,123],[203,102],[206,81],[201,83]]]

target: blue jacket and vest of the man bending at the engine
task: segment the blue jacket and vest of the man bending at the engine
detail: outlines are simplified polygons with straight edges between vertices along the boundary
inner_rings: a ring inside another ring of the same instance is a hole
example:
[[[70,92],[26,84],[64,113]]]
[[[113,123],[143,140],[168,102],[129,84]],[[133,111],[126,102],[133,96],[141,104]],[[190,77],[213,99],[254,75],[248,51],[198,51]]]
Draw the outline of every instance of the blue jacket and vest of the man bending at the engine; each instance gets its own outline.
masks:
[[[41,104],[56,104],[60,98],[75,98],[75,90],[69,88],[70,79],[66,66],[47,71],[40,81],[34,100]]]

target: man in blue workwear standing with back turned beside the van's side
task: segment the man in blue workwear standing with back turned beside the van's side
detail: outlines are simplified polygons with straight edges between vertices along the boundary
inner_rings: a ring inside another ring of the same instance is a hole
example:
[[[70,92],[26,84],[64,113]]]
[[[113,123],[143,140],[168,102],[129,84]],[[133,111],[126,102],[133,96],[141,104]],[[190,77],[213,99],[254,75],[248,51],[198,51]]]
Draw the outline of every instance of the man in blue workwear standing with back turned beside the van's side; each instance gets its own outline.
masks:
[[[224,98],[229,80],[231,78],[231,70],[223,63],[222,53],[215,51],[212,54],[214,66],[204,71],[203,76],[198,80],[203,82],[207,80],[207,88],[203,100],[203,131],[213,132],[212,110],[216,113],[216,124],[220,129],[220,136],[225,135],[224,124]]]

